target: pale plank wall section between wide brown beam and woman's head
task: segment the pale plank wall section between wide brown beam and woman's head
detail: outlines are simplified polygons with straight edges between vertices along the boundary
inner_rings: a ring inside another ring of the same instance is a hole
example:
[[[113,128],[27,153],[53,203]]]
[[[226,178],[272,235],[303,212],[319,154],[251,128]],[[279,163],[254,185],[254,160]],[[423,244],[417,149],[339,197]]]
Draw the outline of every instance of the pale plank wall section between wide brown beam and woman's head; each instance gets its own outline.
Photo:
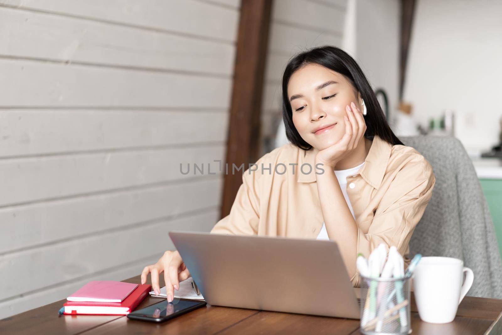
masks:
[[[262,155],[282,122],[281,81],[288,60],[325,44],[341,46],[347,0],[274,0],[262,101]]]

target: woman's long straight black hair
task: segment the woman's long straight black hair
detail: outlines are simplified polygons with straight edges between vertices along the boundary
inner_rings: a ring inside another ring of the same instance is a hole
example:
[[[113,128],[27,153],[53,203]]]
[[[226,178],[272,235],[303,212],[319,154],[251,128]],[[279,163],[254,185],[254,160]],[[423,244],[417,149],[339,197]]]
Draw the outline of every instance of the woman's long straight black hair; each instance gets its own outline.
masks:
[[[312,148],[310,144],[302,139],[293,124],[293,111],[288,98],[288,82],[296,70],[313,63],[344,75],[352,86],[360,92],[367,109],[367,114],[364,116],[366,122],[364,137],[372,140],[377,135],[392,145],[403,144],[389,127],[382,107],[359,65],[345,51],[331,45],[312,48],[297,54],[288,62],[284,70],[282,79],[283,118],[286,126],[286,136],[292,144],[305,150]]]

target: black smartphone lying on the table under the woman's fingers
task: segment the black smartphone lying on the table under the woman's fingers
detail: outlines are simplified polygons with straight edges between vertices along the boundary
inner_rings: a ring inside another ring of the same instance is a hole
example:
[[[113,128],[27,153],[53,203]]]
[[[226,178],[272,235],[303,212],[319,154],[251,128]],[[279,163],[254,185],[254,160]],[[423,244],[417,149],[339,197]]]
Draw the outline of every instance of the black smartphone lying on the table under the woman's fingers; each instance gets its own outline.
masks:
[[[205,301],[174,299],[172,302],[167,302],[167,299],[165,299],[151,306],[135,310],[129,313],[127,317],[134,320],[164,322],[205,305]]]

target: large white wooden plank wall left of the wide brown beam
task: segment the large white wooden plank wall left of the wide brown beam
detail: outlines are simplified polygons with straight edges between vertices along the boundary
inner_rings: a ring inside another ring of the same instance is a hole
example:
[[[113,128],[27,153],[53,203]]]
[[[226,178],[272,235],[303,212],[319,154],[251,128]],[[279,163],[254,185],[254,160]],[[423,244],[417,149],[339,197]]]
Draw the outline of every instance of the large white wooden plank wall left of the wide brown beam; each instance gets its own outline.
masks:
[[[0,0],[0,318],[212,228],[239,6]]]

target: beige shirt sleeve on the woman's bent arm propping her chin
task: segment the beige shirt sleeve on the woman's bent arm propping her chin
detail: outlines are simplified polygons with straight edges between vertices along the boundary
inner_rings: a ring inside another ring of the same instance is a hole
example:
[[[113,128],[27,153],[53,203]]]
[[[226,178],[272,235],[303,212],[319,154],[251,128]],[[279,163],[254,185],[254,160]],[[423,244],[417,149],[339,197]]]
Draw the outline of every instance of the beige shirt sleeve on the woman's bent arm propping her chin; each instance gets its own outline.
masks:
[[[429,162],[423,158],[412,159],[396,174],[375,215],[364,234],[357,232],[357,254],[369,257],[381,243],[388,248],[396,246],[404,256],[411,236],[422,218],[431,199],[436,179]],[[359,273],[351,278],[354,286],[359,285]]]

